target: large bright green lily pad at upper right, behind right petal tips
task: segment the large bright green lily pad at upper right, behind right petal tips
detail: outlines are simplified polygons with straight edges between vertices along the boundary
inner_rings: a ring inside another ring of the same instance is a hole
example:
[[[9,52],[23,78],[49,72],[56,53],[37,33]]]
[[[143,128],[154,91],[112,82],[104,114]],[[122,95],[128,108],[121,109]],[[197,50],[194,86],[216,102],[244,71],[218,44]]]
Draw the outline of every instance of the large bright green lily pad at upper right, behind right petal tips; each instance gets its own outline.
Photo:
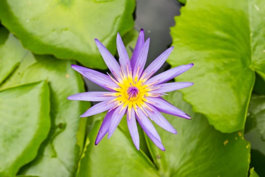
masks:
[[[172,66],[193,81],[184,99],[222,132],[244,128],[256,71],[265,79],[265,1],[190,0],[171,28]]]

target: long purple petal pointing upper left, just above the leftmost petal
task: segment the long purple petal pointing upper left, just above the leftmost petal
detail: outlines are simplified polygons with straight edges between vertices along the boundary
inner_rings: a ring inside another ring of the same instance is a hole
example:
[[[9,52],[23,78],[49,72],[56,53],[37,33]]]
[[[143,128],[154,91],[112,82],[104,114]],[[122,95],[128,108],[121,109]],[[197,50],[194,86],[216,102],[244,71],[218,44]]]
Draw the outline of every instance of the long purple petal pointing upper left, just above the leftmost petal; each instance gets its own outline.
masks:
[[[108,91],[113,91],[111,88],[116,88],[118,85],[110,78],[110,76],[102,74],[101,72],[88,69],[78,65],[71,65],[74,70],[94,82],[95,84],[103,87]]]

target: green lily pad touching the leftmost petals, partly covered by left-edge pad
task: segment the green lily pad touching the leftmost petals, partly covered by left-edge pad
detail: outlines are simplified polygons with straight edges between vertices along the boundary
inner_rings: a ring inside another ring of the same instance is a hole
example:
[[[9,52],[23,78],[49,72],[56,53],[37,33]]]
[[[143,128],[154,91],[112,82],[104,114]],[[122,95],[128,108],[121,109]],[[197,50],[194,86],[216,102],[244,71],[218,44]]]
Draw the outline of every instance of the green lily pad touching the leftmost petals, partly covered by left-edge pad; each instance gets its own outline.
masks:
[[[36,159],[20,170],[20,174],[38,176],[73,176],[82,152],[86,118],[79,115],[89,102],[69,101],[67,97],[84,92],[79,73],[71,68],[73,61],[28,53],[8,78],[4,87],[46,79],[50,86],[51,130]],[[48,170],[47,170],[48,169]]]

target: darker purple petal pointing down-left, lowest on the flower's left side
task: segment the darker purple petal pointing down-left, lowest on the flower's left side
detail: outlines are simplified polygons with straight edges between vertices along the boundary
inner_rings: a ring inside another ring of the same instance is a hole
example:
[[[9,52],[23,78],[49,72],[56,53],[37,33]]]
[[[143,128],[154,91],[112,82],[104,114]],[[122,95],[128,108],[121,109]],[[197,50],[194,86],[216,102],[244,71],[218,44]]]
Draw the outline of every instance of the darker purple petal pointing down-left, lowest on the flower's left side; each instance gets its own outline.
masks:
[[[109,131],[109,127],[110,127],[110,122],[111,122],[111,117],[113,115],[114,110],[111,110],[110,112],[108,112],[105,115],[105,118],[98,130],[97,136],[96,136],[96,141],[95,141],[95,145],[97,145],[102,138],[107,134],[107,132]]]

